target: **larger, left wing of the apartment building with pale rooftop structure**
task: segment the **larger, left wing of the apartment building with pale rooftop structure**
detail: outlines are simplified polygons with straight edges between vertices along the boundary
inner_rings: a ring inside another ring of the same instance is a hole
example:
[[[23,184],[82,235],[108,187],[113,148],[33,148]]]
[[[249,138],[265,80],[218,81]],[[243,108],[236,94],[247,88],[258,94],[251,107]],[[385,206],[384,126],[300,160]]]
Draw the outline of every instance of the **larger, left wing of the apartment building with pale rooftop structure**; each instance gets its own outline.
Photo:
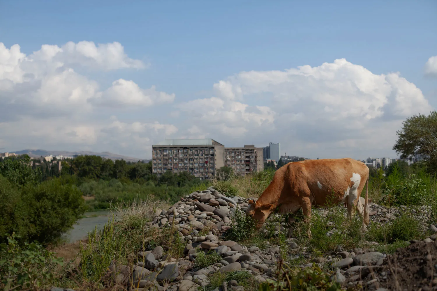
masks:
[[[211,139],[172,139],[152,145],[152,171],[187,171],[201,180],[211,179],[224,166],[225,146]]]

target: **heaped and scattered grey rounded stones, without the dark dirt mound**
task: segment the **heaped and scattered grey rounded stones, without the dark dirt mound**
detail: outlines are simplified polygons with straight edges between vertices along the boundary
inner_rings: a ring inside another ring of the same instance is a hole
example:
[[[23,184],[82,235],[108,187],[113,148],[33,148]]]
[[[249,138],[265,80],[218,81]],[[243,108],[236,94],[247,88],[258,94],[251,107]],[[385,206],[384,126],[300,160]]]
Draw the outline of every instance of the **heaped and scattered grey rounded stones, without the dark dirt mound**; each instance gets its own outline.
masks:
[[[269,246],[265,250],[260,250],[257,246],[240,245],[234,241],[225,240],[222,236],[229,229],[234,213],[236,211],[246,212],[247,200],[239,196],[227,197],[210,187],[208,190],[193,192],[182,197],[170,209],[158,209],[153,221],[147,223],[145,228],[173,227],[176,229],[181,240],[185,242],[184,257],[163,256],[163,248],[157,246],[151,250],[139,252],[138,263],[132,270],[128,266],[117,265],[113,262],[108,270],[108,280],[124,284],[129,291],[136,289],[139,291],[194,291],[210,283],[208,274],[239,270],[252,274],[258,282],[266,281],[276,270],[276,262],[280,257],[279,246]],[[364,204],[364,199],[361,199],[361,203]],[[375,203],[370,203],[370,209],[370,218],[374,223],[386,223],[396,219],[401,212],[407,210],[414,212],[402,207],[385,209]],[[313,209],[313,211],[319,211],[322,215],[324,212],[327,213],[325,209]],[[423,221],[429,217],[429,212],[425,208],[415,212],[415,215],[421,216]],[[201,231],[204,235],[200,234]],[[284,225],[277,226],[276,231],[287,233]],[[329,233],[327,235],[329,236]],[[369,266],[380,266],[386,255],[371,251],[374,245],[377,243],[368,243],[370,252],[367,253],[360,248],[348,251],[339,248],[332,253],[332,256],[316,258],[312,263],[299,267],[303,268],[312,264],[328,266],[335,270],[332,280],[345,285],[362,283],[366,284],[365,286],[376,286],[371,281],[373,280],[371,274],[374,272]],[[288,239],[288,246],[290,250],[293,250],[291,257],[308,257],[309,253],[306,252],[306,248],[299,247],[294,239]],[[215,252],[221,260],[208,267],[198,268],[195,262],[199,249],[205,253]],[[237,286],[236,282],[230,281],[229,285],[226,284],[220,288],[221,291],[243,290],[243,287]]]

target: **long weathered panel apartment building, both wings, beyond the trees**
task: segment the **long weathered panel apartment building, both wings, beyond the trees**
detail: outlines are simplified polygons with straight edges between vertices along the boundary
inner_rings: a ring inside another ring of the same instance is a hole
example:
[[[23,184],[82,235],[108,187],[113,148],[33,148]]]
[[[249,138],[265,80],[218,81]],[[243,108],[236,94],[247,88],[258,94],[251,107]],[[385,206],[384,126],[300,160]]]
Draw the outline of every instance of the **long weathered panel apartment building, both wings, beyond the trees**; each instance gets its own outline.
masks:
[[[238,175],[264,169],[263,148],[254,145],[227,147],[211,139],[165,140],[152,146],[152,171],[160,176],[167,170],[189,172],[202,180],[215,177],[223,166]]]

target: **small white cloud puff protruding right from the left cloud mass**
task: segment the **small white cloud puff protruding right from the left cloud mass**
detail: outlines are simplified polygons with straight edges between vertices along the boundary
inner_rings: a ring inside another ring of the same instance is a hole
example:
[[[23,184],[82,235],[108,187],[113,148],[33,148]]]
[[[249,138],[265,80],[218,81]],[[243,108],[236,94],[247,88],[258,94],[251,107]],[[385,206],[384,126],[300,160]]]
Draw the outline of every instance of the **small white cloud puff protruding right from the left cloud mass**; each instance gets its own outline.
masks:
[[[105,106],[152,106],[157,103],[172,103],[174,93],[156,91],[156,87],[141,89],[135,82],[118,79],[93,102]]]

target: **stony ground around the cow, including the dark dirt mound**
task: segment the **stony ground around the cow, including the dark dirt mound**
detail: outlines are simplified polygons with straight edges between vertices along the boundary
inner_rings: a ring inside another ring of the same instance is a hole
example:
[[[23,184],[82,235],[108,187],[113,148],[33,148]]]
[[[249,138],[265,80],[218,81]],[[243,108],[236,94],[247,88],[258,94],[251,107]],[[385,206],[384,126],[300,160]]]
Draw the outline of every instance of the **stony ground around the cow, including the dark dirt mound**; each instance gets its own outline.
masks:
[[[245,212],[247,207],[247,199],[238,196],[229,198],[213,188],[184,196],[170,209],[158,210],[146,228],[176,227],[186,244],[185,257],[163,256],[163,248],[156,246],[138,253],[138,263],[133,270],[114,262],[109,267],[108,279],[124,284],[129,290],[132,287],[128,286],[133,283],[139,291],[194,291],[210,284],[208,274],[239,270],[250,273],[259,283],[266,281],[274,276],[277,260],[281,257],[280,247],[271,245],[260,250],[257,246],[240,245],[225,240],[223,236],[229,229],[230,218],[234,213]],[[386,223],[396,219],[401,213],[409,212],[422,223],[424,229],[429,227],[427,221],[430,213],[425,207],[419,210],[406,207],[385,209],[371,203],[370,208],[372,223]],[[327,213],[325,209],[314,211],[319,211],[322,215]],[[437,233],[435,226],[430,228]],[[205,233],[205,229],[208,233]],[[284,225],[277,226],[276,230],[286,232]],[[330,233],[326,235],[329,236]],[[378,245],[376,242],[364,243],[363,249],[343,250],[339,247],[330,256],[314,258],[312,262],[298,267],[305,268],[315,263],[329,268],[335,272],[332,280],[340,282],[345,288],[363,286],[365,290],[436,290],[436,236],[434,234],[423,242],[413,243],[393,256],[375,252],[375,246]],[[298,246],[294,239],[288,239],[288,247],[292,253],[291,259],[309,257],[306,248]],[[221,258],[207,267],[196,267],[199,249],[204,252],[213,251]],[[411,272],[415,275],[410,274]],[[409,279],[403,279],[404,277]],[[217,291],[227,289],[244,290],[243,286],[237,286],[237,282],[233,280],[216,288]]]

